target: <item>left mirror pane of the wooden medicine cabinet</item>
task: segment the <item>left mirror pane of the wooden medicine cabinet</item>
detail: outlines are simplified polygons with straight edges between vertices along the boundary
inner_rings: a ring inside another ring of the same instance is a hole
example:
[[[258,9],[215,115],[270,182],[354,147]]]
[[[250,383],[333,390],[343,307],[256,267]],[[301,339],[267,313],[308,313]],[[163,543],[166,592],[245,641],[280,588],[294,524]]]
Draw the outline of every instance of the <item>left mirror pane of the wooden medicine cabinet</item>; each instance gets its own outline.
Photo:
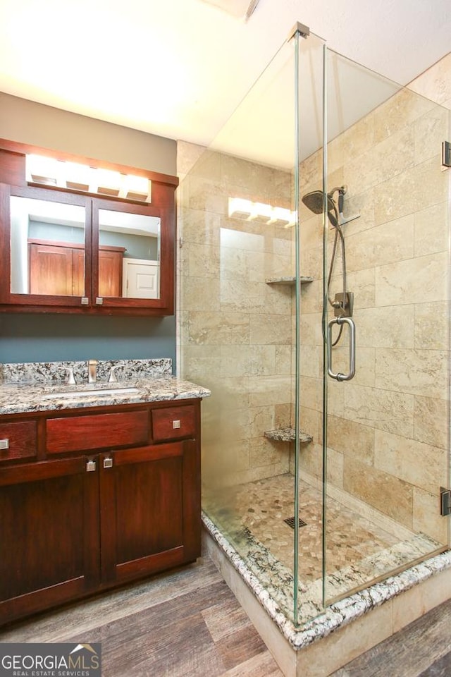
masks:
[[[85,295],[85,208],[11,196],[11,293]]]

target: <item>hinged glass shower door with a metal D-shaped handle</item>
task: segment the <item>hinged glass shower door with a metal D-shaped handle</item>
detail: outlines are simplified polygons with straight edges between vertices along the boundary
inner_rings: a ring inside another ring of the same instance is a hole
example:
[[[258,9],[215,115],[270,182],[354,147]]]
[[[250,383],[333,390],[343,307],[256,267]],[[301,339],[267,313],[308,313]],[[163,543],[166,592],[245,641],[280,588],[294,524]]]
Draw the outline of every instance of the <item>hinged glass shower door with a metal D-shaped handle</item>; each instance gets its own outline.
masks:
[[[448,547],[450,209],[449,111],[326,55],[330,604]]]

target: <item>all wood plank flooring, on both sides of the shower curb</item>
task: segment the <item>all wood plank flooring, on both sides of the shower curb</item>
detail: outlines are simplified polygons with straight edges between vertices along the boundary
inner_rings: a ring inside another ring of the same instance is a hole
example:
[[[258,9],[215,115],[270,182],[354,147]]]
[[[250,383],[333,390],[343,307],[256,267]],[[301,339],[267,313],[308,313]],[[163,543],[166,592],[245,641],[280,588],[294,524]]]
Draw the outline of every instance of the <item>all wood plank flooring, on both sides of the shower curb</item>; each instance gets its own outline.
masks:
[[[451,600],[333,673],[450,677]],[[103,677],[283,677],[211,560],[0,630],[0,642],[101,642]]]

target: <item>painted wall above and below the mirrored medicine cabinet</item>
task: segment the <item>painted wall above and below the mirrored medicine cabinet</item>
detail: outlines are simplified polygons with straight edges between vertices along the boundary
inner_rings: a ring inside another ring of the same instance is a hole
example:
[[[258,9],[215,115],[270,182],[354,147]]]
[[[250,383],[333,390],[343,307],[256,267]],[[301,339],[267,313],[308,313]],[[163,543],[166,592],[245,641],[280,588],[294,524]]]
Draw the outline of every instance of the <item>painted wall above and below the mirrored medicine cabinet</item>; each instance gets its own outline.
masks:
[[[0,92],[0,138],[175,175],[175,141]],[[175,317],[0,313],[0,362],[172,358]]]

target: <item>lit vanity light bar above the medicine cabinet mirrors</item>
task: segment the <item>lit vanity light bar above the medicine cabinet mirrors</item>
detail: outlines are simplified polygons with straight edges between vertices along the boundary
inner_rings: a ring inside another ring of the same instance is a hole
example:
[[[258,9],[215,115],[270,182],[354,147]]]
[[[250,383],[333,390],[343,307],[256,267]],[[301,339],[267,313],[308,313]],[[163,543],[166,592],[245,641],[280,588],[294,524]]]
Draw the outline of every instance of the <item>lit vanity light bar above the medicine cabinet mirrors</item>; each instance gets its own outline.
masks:
[[[145,176],[122,174],[110,169],[35,154],[26,156],[25,166],[27,182],[33,185],[151,202],[152,182]]]

